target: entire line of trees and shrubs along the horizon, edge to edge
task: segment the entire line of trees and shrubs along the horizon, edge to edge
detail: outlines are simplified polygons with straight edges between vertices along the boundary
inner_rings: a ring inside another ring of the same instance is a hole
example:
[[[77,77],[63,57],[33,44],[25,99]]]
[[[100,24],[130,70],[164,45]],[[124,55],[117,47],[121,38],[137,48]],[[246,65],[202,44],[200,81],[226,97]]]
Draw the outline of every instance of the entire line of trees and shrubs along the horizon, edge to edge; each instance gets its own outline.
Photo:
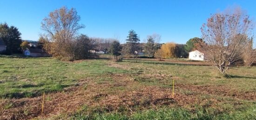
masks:
[[[124,56],[133,58],[146,55],[148,58],[187,58],[188,53],[199,50],[207,54],[205,58],[217,67],[222,74],[236,61],[243,61],[251,66],[256,61],[253,49],[254,29],[249,15],[240,7],[228,12],[211,14],[207,23],[202,24],[202,38],[191,38],[186,44],[160,44],[161,35],[148,35],[146,43],[140,43],[134,30],[128,32],[125,44],[117,38],[89,38],[78,34],[85,25],[79,23],[80,16],[74,8],[61,7],[50,12],[41,22],[38,46],[53,57],[73,61],[93,57],[91,50],[105,51],[114,56],[114,61],[121,61]],[[0,24],[0,41],[7,45],[5,54],[22,52],[28,49],[28,42],[21,43],[18,28]]]

